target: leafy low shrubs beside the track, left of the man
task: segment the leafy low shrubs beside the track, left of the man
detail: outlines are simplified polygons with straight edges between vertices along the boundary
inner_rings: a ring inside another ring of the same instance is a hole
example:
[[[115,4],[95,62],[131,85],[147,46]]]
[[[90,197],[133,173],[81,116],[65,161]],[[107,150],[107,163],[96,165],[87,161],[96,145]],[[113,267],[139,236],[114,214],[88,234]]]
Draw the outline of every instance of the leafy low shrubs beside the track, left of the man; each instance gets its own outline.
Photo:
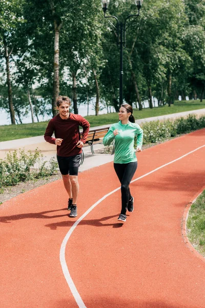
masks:
[[[0,187],[52,176],[56,168],[57,162],[53,158],[49,162],[44,161],[38,149],[34,153],[30,150],[25,152],[24,149],[9,151],[6,158],[0,160]]]

